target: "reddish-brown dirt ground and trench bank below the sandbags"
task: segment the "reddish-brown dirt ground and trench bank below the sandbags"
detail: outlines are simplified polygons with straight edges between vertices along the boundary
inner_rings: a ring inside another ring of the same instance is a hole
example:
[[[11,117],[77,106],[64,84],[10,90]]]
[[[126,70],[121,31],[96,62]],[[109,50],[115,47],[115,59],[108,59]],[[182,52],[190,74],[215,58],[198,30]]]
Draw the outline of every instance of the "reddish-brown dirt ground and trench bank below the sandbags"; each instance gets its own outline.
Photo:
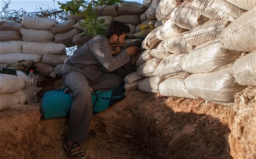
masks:
[[[42,92],[61,88],[44,80]],[[222,106],[201,99],[126,91],[93,115],[87,158],[256,158],[255,87]],[[0,158],[71,158],[62,146],[67,118],[41,120],[40,102],[0,111]]]

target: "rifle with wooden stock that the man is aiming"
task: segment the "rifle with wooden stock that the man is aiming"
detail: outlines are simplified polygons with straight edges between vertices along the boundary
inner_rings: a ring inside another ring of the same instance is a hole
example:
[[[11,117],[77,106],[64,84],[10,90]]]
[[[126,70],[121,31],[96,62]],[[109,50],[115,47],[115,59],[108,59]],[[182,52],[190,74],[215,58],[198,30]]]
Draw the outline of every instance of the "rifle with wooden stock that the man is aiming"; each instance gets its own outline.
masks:
[[[126,40],[131,39],[132,41],[129,44],[114,44],[110,45],[112,55],[121,53],[122,50],[127,47],[135,46],[141,48],[141,43],[146,38],[147,35],[127,35]]]

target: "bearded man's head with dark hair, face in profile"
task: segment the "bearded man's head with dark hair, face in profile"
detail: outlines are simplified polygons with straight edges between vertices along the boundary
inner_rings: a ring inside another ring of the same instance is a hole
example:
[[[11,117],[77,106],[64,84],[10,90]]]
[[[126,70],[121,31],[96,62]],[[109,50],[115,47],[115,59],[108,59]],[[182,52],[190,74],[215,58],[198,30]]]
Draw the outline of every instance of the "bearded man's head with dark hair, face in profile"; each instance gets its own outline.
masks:
[[[124,44],[126,42],[126,35],[129,32],[129,25],[114,20],[109,24],[109,27],[106,30],[106,37],[111,39],[112,43]]]

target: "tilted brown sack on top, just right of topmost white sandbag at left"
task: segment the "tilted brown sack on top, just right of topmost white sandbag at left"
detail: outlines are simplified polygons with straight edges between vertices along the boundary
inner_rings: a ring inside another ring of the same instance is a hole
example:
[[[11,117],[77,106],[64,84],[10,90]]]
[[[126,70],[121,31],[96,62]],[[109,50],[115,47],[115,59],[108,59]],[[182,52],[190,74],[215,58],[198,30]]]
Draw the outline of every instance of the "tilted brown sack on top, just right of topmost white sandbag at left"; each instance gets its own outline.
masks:
[[[73,20],[73,19],[70,19],[70,20],[66,20],[64,22],[61,22],[61,23],[57,23],[55,25],[53,25],[51,28],[50,28],[50,32],[52,33],[65,33],[69,30],[72,30],[73,29],[73,25],[76,24],[76,20]]]

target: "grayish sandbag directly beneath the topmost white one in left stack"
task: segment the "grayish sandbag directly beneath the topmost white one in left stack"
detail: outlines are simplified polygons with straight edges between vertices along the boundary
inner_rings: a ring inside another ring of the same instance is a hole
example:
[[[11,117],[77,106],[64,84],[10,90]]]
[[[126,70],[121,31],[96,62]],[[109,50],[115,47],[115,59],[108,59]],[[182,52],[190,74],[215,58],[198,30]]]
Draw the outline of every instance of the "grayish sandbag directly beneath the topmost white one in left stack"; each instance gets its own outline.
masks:
[[[49,30],[21,29],[22,41],[26,42],[52,42],[55,34]]]

